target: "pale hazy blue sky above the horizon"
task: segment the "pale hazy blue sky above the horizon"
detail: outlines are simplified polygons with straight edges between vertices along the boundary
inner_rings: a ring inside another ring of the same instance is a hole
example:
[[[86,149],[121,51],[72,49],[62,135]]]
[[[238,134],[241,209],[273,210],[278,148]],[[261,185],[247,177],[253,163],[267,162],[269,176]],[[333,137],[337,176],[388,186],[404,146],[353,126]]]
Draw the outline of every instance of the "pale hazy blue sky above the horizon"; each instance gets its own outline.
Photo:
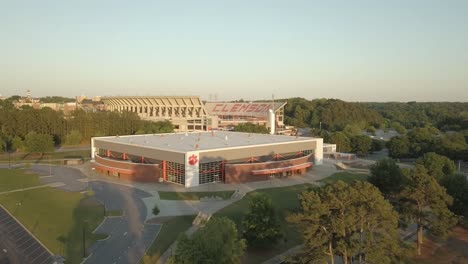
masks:
[[[468,101],[467,0],[0,0],[5,96]]]

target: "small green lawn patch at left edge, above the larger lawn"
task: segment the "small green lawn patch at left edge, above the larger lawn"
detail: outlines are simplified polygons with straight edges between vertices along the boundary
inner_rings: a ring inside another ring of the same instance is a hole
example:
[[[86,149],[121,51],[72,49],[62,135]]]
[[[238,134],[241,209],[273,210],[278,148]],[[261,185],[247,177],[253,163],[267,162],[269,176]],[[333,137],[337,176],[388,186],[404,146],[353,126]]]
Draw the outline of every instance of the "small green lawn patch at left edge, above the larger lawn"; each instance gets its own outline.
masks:
[[[40,185],[39,176],[24,169],[0,169],[0,192]]]

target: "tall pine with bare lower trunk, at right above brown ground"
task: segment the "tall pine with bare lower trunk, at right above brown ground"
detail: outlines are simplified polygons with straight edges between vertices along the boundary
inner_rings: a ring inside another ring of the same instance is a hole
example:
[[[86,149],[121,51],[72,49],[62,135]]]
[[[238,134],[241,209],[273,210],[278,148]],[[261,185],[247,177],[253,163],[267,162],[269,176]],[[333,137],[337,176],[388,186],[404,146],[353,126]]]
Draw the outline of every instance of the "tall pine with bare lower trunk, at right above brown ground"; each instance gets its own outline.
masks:
[[[401,192],[400,205],[405,219],[417,225],[417,253],[421,255],[424,229],[446,238],[455,225],[456,219],[448,209],[453,199],[424,166],[416,164],[414,169],[405,172],[409,182]]]

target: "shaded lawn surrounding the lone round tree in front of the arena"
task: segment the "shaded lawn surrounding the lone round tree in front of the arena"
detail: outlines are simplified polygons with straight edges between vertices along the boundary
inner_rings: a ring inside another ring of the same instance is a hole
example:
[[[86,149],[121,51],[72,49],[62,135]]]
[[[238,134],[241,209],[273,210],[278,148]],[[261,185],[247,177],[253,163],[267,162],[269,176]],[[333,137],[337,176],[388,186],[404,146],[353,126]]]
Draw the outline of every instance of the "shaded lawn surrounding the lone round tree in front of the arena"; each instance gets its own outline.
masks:
[[[301,184],[249,192],[242,200],[223,208],[218,211],[215,216],[229,217],[236,223],[237,229],[240,229],[242,217],[248,211],[249,198],[255,193],[265,193],[271,198],[278,212],[281,229],[285,238],[268,250],[247,250],[244,258],[246,263],[261,263],[302,243],[302,235],[295,225],[286,222],[286,216],[289,212],[299,209],[298,195],[310,188],[315,188],[315,186],[311,184]]]

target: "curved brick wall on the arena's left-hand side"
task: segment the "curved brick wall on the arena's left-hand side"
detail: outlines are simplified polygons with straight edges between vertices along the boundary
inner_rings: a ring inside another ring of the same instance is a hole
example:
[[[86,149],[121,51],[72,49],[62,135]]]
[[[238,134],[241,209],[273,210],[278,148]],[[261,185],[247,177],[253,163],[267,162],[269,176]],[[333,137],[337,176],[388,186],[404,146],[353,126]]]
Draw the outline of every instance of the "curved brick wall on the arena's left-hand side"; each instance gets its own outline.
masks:
[[[140,164],[107,159],[96,155],[94,168],[110,177],[141,182],[158,182],[161,177],[159,164]]]

